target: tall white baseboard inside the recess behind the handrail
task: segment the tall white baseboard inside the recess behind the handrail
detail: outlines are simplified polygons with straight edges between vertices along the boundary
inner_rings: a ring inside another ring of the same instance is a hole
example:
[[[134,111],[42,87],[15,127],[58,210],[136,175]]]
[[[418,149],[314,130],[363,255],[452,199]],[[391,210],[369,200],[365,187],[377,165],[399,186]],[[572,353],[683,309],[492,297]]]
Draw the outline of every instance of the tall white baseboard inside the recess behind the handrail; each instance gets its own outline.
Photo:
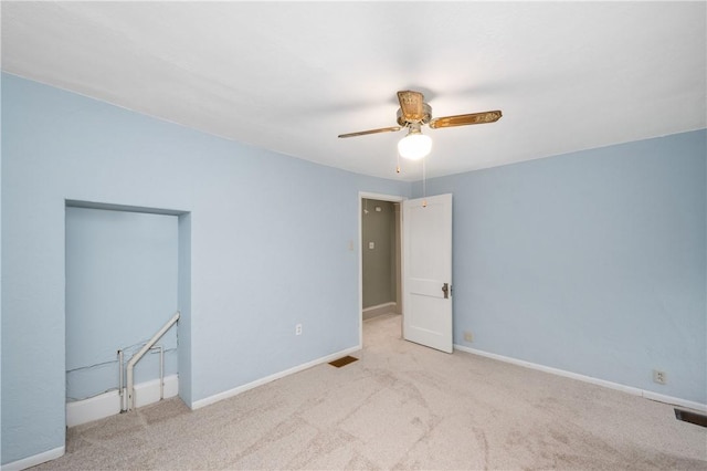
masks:
[[[179,376],[165,377],[165,399],[179,393]],[[159,379],[135,385],[135,407],[159,401]],[[120,414],[120,395],[117,390],[104,393],[84,400],[66,404],[66,427],[80,426]]]

